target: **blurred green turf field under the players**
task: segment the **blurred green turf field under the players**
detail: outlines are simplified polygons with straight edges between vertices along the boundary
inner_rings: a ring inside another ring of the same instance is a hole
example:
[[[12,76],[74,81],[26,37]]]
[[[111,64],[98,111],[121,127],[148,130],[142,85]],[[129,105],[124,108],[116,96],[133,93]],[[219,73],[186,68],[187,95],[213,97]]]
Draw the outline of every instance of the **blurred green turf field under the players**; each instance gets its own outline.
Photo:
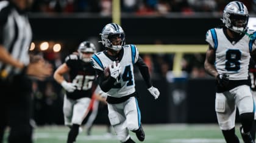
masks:
[[[223,143],[221,131],[216,124],[160,124],[143,125],[146,133],[145,143]],[[118,143],[115,135],[107,135],[104,125],[95,125],[91,136],[85,131],[79,134],[76,143]],[[135,142],[140,142],[134,133],[130,133]],[[68,127],[44,126],[34,131],[35,143],[64,143],[68,135]],[[241,136],[236,127],[236,135]],[[6,138],[7,135],[5,135]],[[241,141],[242,142],[242,141]]]

